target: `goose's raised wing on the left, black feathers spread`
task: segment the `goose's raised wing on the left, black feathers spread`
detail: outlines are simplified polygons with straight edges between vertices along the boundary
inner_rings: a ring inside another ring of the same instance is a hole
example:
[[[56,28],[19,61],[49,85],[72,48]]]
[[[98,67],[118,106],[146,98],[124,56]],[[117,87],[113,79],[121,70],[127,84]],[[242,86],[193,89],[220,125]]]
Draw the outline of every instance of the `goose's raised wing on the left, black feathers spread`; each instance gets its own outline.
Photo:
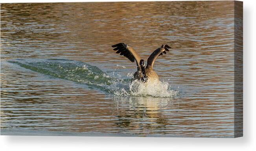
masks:
[[[133,48],[129,47],[125,43],[114,44],[112,45],[112,47],[114,48],[116,53],[120,53],[120,55],[127,57],[131,62],[134,62],[135,60],[137,67],[140,67],[140,56],[133,50]]]

